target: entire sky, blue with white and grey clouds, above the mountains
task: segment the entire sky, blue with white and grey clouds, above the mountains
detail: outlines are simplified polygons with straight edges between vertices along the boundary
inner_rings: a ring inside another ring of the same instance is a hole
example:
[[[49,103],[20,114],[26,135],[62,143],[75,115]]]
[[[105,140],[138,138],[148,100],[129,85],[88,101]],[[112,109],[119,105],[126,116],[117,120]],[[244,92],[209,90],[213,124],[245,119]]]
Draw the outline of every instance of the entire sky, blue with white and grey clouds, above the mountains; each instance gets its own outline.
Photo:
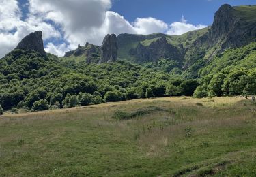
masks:
[[[224,3],[256,0],[0,0],[0,57],[23,37],[42,31],[46,52],[63,56],[108,33],[181,35],[212,24]]]

